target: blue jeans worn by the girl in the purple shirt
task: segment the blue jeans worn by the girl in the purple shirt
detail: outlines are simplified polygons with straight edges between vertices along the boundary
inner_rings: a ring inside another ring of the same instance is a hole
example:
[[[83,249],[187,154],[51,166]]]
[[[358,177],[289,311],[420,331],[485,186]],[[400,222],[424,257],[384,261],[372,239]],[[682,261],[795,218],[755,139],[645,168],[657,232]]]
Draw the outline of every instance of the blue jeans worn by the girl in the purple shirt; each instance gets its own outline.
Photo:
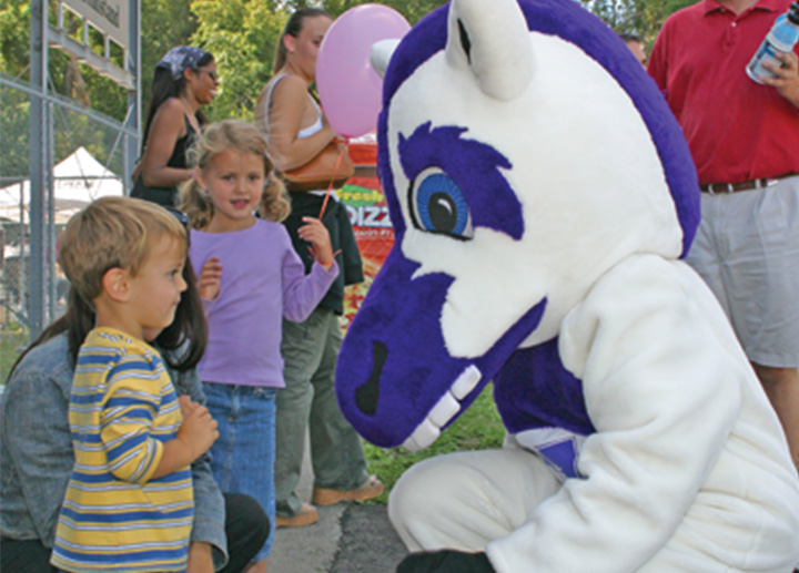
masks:
[[[246,493],[275,519],[274,421],[275,389],[260,386],[205,383],[208,409],[219,422],[211,447],[211,470],[222,491]],[[269,557],[274,528],[253,561]]]

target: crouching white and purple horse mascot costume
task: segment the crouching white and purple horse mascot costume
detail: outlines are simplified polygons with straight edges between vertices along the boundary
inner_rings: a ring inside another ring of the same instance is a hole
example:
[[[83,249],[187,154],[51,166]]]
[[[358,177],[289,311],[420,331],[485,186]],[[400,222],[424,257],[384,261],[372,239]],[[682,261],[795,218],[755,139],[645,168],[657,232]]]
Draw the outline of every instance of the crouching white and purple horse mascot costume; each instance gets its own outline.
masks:
[[[799,478],[680,262],[694,166],[624,43],[574,0],[453,0],[376,66],[396,244],[344,341],[342,410],[425,447],[493,380],[510,436],[403,477],[390,515],[421,553],[401,569],[791,570]]]

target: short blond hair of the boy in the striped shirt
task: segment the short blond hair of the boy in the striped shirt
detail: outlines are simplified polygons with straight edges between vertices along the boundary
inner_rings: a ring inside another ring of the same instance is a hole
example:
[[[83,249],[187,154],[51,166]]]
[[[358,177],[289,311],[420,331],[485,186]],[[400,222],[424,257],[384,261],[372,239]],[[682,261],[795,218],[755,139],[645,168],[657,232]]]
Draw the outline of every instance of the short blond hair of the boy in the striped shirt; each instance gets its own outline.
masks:
[[[67,223],[59,263],[72,288],[91,304],[102,293],[105,273],[122,268],[135,276],[164,236],[186,248],[185,228],[165,208],[133,197],[102,197]]]

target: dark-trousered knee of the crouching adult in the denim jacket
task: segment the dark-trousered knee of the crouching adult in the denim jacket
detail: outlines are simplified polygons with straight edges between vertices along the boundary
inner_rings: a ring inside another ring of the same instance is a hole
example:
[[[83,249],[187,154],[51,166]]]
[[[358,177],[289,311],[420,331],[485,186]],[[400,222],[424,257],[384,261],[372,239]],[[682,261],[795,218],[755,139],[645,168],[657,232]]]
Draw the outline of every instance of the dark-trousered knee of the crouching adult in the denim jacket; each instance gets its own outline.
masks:
[[[270,533],[266,513],[257,501],[244,493],[223,493],[227,565],[220,573],[241,573],[263,548]]]

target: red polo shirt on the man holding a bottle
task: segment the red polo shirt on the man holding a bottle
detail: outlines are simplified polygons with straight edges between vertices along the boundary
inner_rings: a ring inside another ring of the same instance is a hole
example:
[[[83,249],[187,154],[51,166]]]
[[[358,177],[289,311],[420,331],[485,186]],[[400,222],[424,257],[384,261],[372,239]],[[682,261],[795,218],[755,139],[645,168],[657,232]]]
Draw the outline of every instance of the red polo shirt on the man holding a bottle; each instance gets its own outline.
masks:
[[[649,73],[682,126],[699,183],[799,172],[799,109],[745,71],[789,6],[760,0],[736,16],[704,0],[666,20]]]

